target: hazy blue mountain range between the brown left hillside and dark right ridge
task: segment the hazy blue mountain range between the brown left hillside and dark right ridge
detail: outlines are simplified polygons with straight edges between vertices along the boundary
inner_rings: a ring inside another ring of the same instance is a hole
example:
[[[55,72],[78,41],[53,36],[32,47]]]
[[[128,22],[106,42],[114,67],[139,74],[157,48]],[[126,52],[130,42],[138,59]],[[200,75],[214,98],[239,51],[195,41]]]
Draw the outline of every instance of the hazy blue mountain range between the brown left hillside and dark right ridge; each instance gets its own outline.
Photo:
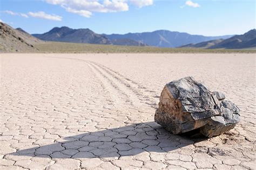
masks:
[[[153,32],[127,33],[124,35],[100,35],[90,29],[71,29],[66,26],[53,28],[43,34],[33,36],[49,41],[91,44],[113,44],[132,46],[178,47],[188,43],[199,43],[207,40],[230,38],[232,36],[206,37],[182,32],[159,30]]]

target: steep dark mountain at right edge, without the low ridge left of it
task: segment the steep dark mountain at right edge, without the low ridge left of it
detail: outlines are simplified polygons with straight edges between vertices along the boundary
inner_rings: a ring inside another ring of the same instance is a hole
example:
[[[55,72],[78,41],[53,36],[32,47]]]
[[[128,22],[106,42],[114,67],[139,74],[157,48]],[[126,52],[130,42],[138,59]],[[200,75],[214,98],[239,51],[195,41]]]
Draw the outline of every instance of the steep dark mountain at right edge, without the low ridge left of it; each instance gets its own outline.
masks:
[[[210,49],[244,49],[256,47],[256,30],[250,30],[244,35],[233,36],[225,39],[222,42],[211,46]]]

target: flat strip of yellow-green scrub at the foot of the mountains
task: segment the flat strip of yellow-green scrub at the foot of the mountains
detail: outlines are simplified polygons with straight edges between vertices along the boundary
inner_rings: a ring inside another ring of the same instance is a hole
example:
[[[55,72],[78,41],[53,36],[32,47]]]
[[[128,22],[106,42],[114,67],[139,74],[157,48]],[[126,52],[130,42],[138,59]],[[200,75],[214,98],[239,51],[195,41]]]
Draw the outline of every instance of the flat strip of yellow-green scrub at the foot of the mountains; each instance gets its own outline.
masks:
[[[35,44],[38,52],[52,53],[254,53],[256,49],[191,49],[191,48],[159,48],[152,46],[120,46],[82,43],[47,42]]]

